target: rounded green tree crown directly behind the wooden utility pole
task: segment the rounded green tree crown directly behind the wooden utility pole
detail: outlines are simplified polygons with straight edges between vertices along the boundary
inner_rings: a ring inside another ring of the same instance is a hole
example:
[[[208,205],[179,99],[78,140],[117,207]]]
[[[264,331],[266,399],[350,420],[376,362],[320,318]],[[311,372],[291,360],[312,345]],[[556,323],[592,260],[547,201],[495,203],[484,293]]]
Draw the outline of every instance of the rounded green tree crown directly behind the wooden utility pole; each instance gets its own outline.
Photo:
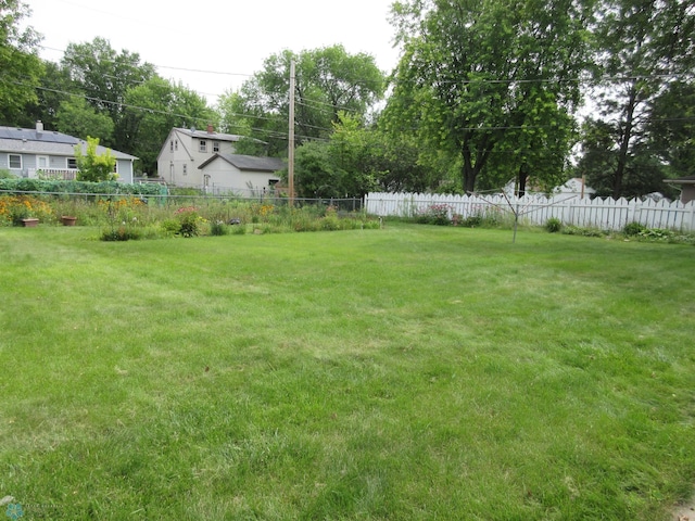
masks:
[[[383,73],[368,54],[349,54],[342,46],[332,46],[269,56],[263,71],[239,92],[223,97],[219,110],[228,131],[251,131],[252,137],[269,143],[271,155],[287,150],[292,61],[298,144],[328,137],[340,111],[363,115],[383,96]]]

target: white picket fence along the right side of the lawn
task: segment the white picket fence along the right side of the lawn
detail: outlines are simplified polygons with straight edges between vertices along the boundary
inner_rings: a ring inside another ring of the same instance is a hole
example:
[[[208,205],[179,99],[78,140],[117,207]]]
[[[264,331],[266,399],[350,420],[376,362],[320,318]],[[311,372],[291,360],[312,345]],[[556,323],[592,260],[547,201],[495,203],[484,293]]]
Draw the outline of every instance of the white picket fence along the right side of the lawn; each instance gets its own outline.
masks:
[[[648,228],[679,231],[695,231],[695,201],[683,204],[666,200],[641,201],[633,199],[580,199],[558,195],[552,199],[529,195],[505,198],[504,195],[438,195],[428,193],[371,192],[365,198],[367,213],[381,217],[415,217],[427,213],[433,205],[445,205],[450,218],[456,214],[463,218],[475,215],[519,215],[519,220],[543,226],[551,217],[564,225],[620,230],[628,223],[641,223]]]

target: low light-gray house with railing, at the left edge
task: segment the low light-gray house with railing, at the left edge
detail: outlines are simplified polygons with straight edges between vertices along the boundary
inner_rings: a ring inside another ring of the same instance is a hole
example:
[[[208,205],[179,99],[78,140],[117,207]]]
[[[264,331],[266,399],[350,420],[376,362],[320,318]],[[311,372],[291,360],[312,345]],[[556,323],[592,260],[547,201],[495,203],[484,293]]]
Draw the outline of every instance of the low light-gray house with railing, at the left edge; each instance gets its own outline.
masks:
[[[36,128],[0,127],[0,169],[10,170],[17,177],[36,178],[45,175],[72,180],[77,175],[75,145],[87,151],[87,142],[66,134],[45,130],[37,122]],[[99,145],[98,154],[106,152]],[[116,158],[115,173],[122,182],[132,182],[136,156],[112,150]]]

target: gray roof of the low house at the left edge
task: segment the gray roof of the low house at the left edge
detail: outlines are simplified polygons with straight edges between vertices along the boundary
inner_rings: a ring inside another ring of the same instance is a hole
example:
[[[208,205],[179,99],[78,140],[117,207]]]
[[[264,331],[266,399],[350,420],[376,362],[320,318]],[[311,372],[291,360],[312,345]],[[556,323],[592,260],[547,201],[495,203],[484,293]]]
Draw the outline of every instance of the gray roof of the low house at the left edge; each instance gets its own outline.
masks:
[[[86,141],[66,134],[34,128],[0,127],[0,152],[74,157],[76,144],[81,144],[83,151],[87,150]],[[106,147],[97,148],[99,154],[105,151]],[[135,155],[117,150],[112,150],[111,153],[117,160],[137,160]]]

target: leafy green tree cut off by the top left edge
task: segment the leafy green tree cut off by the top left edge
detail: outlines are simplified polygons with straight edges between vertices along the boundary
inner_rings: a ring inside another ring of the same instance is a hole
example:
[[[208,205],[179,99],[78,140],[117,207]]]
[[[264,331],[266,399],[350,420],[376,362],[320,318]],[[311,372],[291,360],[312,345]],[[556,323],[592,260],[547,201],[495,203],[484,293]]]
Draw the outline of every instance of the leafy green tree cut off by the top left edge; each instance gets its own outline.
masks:
[[[0,124],[24,124],[24,109],[38,101],[36,87],[42,73],[37,54],[39,35],[22,30],[22,20],[30,14],[22,0],[0,1]]]

